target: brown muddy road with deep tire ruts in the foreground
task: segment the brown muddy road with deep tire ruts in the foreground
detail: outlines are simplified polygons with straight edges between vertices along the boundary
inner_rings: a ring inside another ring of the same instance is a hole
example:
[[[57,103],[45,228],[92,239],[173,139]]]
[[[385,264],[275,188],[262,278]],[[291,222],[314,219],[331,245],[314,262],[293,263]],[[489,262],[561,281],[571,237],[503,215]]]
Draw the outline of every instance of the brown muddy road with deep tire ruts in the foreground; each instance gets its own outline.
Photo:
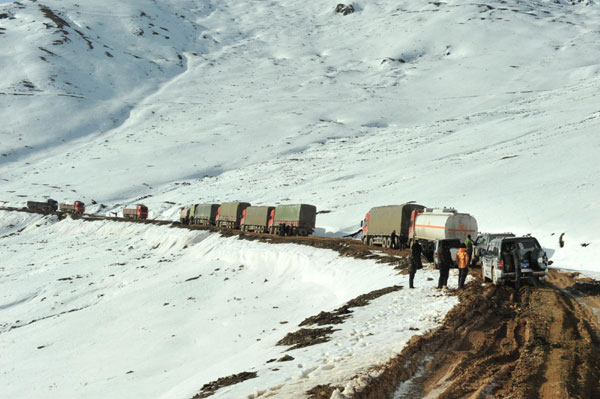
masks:
[[[441,327],[411,339],[352,398],[600,398],[598,318],[570,293],[577,284],[554,270],[519,292],[476,279]]]

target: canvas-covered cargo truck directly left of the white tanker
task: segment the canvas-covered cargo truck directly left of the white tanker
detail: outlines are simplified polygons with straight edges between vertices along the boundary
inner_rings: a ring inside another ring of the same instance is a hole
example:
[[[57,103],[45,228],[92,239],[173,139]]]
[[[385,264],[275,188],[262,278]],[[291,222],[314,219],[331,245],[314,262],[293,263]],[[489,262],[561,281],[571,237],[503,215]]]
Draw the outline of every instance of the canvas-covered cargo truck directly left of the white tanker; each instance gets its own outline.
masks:
[[[371,208],[361,222],[363,243],[381,245],[384,248],[408,246],[412,211],[422,209],[425,209],[423,205],[412,203]],[[392,243],[392,232],[394,231],[397,237],[396,243]]]

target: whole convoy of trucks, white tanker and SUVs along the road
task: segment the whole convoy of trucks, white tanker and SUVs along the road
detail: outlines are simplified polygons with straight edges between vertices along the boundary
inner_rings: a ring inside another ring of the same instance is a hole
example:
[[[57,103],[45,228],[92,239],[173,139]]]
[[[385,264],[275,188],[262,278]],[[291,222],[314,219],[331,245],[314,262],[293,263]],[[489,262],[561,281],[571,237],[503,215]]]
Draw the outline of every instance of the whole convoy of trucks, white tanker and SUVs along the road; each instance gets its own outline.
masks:
[[[82,201],[58,204],[28,201],[27,209],[43,214],[85,213]],[[137,204],[123,209],[123,218],[146,220],[148,207]],[[192,204],[181,209],[179,222],[184,225],[216,226],[244,232],[308,236],[314,232],[317,208],[309,204],[252,206],[248,202]],[[481,261],[483,275],[494,284],[529,278],[543,280],[548,258],[534,237],[515,237],[512,233],[479,234],[476,219],[453,208],[427,208],[409,202],[371,208],[361,221],[362,242],[383,248],[406,248],[419,242],[423,255],[437,265],[443,248],[452,257],[467,236],[476,238],[473,263]],[[437,255],[437,256],[436,256]]]

